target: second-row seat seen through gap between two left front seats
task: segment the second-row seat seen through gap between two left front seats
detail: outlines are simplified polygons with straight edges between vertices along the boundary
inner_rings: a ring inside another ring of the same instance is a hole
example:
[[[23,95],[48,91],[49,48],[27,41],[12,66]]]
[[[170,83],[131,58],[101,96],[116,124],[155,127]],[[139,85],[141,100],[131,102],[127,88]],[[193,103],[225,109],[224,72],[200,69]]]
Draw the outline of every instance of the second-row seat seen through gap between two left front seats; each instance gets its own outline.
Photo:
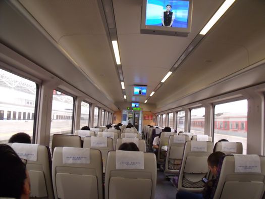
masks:
[[[84,144],[83,144],[83,148],[93,148],[93,149],[97,149],[101,152],[103,172],[105,172],[105,165],[106,165],[108,153],[109,153],[109,151],[114,150],[112,138],[106,137],[105,139],[107,139],[107,146],[93,146],[93,145],[91,146],[91,137],[85,137]],[[100,141],[102,142],[102,139]],[[103,141],[105,141],[105,140],[103,140]]]

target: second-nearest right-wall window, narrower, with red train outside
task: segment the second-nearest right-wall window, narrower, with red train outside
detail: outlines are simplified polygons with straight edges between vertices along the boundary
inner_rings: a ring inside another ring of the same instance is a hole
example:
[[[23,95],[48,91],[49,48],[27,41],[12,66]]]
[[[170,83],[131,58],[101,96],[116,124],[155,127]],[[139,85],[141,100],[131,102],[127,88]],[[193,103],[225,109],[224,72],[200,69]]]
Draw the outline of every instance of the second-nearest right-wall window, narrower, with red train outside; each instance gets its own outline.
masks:
[[[194,133],[195,135],[204,134],[204,119],[205,119],[204,115],[205,115],[204,107],[190,110],[190,132],[191,133]],[[201,123],[201,125],[199,125],[199,123]]]

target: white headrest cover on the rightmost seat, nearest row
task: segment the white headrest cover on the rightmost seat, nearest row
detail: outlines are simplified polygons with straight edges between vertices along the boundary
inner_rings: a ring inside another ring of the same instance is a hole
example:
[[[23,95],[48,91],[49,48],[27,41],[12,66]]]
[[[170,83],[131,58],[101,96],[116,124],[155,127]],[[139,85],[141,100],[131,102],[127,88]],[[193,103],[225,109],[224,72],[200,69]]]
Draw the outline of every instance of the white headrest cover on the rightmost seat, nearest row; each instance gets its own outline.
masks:
[[[258,155],[233,155],[235,157],[235,173],[261,173]]]

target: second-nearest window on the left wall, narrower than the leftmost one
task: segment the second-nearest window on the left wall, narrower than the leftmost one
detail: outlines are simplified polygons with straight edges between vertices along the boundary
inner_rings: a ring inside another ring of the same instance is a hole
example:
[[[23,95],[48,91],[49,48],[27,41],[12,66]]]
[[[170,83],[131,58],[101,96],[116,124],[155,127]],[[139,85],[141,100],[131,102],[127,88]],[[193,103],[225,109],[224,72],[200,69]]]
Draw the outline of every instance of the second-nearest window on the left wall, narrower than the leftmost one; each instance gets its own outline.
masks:
[[[74,98],[72,96],[54,90],[54,94],[52,96],[51,118],[54,118],[54,115],[59,115],[59,120],[51,120],[50,145],[51,145],[52,134],[72,133],[73,108],[74,108]],[[66,120],[66,116],[70,116],[71,119]]]

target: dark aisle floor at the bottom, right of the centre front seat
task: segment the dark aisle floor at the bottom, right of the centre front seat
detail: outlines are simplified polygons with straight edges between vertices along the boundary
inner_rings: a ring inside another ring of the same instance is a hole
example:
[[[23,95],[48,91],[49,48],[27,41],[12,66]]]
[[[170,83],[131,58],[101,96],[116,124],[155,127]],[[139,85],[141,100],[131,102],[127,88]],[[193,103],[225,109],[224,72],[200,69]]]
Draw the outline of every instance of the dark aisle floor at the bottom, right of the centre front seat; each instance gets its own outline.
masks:
[[[167,181],[163,171],[157,171],[156,179],[156,189],[155,189],[155,198],[156,199],[175,199],[177,190],[171,184],[170,181]]]

